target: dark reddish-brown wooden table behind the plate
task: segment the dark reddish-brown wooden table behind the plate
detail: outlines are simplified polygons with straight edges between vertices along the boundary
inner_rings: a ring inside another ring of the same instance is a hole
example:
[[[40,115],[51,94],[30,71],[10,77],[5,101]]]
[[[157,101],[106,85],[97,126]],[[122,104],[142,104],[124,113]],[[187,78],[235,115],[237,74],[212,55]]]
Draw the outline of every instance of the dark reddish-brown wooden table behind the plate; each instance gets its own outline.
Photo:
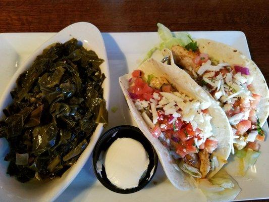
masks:
[[[58,32],[79,21],[90,22],[101,32],[156,31],[157,22],[172,31],[243,31],[252,59],[269,81],[268,0],[0,0],[0,9],[0,33]]]

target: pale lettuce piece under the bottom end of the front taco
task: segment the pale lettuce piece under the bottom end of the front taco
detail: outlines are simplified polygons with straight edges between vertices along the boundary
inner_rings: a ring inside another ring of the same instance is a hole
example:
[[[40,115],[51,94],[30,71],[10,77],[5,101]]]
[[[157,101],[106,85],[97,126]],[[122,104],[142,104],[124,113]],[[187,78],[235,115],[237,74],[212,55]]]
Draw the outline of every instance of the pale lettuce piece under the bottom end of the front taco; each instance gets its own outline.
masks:
[[[199,188],[207,201],[232,201],[241,191],[237,182],[224,169],[210,179],[199,180]]]

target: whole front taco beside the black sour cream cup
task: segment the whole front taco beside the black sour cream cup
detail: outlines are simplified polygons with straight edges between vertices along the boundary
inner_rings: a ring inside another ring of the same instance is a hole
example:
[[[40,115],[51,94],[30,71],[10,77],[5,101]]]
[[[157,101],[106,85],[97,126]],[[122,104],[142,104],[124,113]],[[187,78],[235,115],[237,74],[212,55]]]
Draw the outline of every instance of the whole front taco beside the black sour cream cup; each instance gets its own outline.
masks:
[[[227,162],[233,139],[218,105],[184,70],[148,59],[119,78],[138,127],[154,146],[171,183],[197,187]]]

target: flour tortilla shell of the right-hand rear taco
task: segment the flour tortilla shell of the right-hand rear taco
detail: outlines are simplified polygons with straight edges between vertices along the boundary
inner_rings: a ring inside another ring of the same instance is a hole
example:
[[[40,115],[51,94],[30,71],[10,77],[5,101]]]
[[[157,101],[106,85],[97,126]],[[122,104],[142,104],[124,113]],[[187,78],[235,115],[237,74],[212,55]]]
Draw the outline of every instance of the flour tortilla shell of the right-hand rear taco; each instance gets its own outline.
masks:
[[[260,126],[263,126],[269,115],[269,90],[264,76],[257,65],[232,46],[209,39],[197,39],[196,41],[200,53],[208,54],[209,58],[223,61],[231,65],[247,67],[249,69],[250,75],[253,76],[252,85],[255,89],[255,93],[262,96],[257,106],[257,116],[260,121]]]

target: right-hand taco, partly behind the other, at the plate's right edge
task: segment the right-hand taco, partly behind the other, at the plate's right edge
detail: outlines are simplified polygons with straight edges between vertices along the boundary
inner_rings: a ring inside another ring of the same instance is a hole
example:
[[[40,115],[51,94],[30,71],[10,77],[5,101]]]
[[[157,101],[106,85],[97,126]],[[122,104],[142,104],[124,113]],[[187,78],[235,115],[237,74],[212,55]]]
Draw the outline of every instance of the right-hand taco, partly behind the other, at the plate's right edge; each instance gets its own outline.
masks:
[[[173,46],[175,63],[219,102],[232,126],[234,147],[256,155],[269,115],[269,90],[261,71],[236,48],[208,39],[196,43],[196,50]]]

